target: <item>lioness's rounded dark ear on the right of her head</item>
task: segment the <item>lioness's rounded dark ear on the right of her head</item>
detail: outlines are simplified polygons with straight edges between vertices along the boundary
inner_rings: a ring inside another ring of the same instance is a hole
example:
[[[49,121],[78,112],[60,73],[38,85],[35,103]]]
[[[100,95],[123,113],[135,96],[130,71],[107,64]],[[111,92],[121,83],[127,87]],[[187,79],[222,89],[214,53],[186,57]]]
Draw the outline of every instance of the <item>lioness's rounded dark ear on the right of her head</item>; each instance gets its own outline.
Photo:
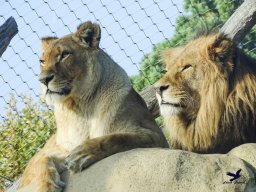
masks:
[[[73,38],[84,47],[98,48],[101,37],[100,26],[87,21],[77,27]]]

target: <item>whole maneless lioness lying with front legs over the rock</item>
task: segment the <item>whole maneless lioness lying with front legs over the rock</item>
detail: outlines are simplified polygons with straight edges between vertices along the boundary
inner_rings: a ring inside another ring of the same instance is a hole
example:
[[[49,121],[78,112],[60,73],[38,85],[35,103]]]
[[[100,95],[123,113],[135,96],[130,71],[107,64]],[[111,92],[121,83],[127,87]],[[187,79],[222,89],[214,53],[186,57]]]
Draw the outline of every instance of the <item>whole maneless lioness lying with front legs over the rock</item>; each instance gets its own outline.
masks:
[[[54,107],[57,132],[28,163],[19,187],[61,191],[63,162],[73,172],[138,147],[168,147],[129,78],[99,48],[100,27],[86,22],[73,34],[42,39],[40,82]]]

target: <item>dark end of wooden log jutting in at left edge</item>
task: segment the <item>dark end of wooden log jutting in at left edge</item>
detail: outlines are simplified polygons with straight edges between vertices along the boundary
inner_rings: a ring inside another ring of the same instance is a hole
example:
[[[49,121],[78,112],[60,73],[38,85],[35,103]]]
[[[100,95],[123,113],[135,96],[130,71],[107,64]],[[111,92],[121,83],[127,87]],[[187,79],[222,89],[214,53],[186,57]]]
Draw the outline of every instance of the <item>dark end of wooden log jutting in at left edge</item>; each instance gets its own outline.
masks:
[[[0,57],[11,42],[11,39],[18,33],[18,26],[13,17],[10,17],[0,26]]]

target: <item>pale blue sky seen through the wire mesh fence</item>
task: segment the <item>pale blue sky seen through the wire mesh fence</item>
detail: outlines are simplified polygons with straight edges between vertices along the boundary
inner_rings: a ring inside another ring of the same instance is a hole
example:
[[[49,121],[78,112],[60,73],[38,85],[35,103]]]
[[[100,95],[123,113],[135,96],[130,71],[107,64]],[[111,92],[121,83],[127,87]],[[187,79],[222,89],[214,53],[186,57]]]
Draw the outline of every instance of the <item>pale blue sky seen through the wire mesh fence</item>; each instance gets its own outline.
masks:
[[[10,94],[40,95],[40,38],[61,37],[87,20],[102,28],[100,47],[129,76],[152,47],[171,38],[181,0],[0,0],[0,25],[14,17],[19,33],[0,58],[0,119]],[[22,99],[17,97],[18,103]]]

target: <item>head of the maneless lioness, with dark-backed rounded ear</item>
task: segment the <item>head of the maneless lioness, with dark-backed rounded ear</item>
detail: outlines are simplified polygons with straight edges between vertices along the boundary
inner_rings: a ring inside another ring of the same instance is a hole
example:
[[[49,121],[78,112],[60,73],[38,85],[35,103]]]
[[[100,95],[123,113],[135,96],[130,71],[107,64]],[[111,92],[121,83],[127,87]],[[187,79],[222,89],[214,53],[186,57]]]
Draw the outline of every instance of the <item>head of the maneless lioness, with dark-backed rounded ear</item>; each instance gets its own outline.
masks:
[[[71,35],[42,38],[39,80],[48,104],[72,104],[93,92],[100,79],[100,66],[94,62],[99,52],[100,35],[99,25],[86,22]]]

